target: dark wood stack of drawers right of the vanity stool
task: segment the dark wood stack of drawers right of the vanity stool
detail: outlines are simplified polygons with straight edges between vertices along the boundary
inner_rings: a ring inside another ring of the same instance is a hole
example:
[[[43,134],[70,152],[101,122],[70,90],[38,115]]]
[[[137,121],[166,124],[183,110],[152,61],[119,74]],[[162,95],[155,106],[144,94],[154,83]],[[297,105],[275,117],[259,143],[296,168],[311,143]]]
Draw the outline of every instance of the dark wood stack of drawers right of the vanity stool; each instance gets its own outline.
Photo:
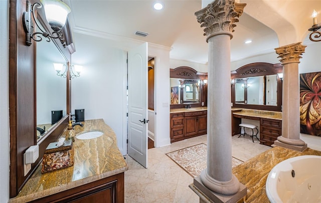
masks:
[[[261,118],[260,121],[260,144],[271,146],[278,136],[282,134],[282,121]]]

